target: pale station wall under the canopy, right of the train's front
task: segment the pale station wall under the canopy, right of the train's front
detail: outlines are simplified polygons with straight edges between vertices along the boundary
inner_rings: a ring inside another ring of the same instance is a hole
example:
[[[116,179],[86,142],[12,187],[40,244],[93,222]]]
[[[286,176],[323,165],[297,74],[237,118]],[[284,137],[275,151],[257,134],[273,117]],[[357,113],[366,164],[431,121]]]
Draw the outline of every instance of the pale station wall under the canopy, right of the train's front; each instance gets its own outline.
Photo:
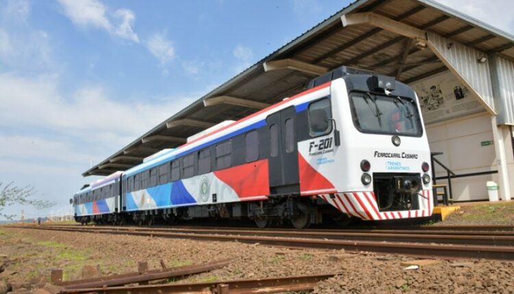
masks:
[[[437,158],[456,174],[497,170],[495,146],[482,146],[481,144],[481,142],[493,141],[491,116],[488,113],[478,113],[430,124],[426,126],[426,131],[430,150],[444,152]],[[506,136],[510,134],[504,133]],[[509,169],[514,172],[511,140],[506,138],[505,142],[509,157]],[[436,176],[446,175],[446,172],[437,163],[435,171]],[[498,181],[498,174],[452,179],[454,201],[487,200],[485,185],[487,181]],[[440,180],[437,183],[447,182]]]

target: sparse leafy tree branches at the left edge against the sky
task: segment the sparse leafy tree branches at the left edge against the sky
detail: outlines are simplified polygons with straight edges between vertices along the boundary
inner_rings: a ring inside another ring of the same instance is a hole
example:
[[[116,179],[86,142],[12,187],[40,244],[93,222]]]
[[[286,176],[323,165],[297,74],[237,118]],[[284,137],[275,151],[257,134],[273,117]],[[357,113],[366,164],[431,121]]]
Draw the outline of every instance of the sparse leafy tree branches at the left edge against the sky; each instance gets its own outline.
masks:
[[[14,217],[14,215],[3,213],[3,209],[12,204],[31,205],[36,207],[36,209],[47,209],[55,205],[55,202],[33,199],[34,193],[36,191],[32,186],[16,187],[12,182],[7,185],[0,182],[0,217],[5,217],[6,219]]]

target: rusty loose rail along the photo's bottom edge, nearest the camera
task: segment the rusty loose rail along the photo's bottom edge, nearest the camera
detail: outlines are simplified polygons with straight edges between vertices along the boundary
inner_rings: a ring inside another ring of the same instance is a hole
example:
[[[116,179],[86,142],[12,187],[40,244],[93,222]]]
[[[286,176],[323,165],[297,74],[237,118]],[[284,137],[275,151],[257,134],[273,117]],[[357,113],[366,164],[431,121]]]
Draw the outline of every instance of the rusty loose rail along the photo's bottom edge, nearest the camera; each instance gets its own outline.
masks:
[[[223,282],[175,283],[141,286],[98,287],[88,289],[64,289],[62,293],[103,293],[103,294],[146,294],[146,293],[279,293],[310,291],[317,282],[332,278],[338,273],[286,278],[263,278],[256,280],[228,280]]]

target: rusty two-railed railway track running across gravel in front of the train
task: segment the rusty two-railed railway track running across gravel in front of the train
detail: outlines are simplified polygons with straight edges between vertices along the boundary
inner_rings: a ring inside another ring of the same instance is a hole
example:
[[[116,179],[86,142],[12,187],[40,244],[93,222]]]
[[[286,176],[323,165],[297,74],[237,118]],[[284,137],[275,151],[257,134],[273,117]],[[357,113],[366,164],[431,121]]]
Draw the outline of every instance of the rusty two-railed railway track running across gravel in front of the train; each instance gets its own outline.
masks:
[[[423,257],[514,260],[514,236],[512,232],[509,232],[511,235],[498,235],[498,232],[508,231],[476,231],[474,235],[454,231],[453,235],[435,235],[434,232],[450,231],[412,230],[416,233],[411,234],[410,231],[406,230],[389,230],[389,232],[382,232],[384,230],[380,230],[380,232],[377,232],[377,230],[368,230],[367,232],[350,230],[350,232],[343,232],[341,230],[295,231],[219,228],[208,230],[206,228],[103,226],[16,226],[16,228],[209,241],[238,241],[288,248],[345,249],[350,252],[380,252]]]

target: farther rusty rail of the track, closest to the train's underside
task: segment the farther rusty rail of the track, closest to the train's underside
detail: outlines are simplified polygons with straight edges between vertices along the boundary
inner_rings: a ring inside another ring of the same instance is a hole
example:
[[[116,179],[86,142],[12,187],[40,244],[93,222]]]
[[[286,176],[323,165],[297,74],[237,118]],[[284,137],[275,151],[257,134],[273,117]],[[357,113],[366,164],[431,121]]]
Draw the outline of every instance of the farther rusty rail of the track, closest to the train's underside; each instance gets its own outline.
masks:
[[[56,227],[70,229],[64,226]],[[90,227],[91,228],[91,227]],[[292,238],[311,238],[311,239],[336,239],[336,240],[360,240],[360,241],[388,241],[388,242],[419,242],[419,243],[441,243],[441,244],[460,244],[460,245],[493,245],[493,246],[514,246],[514,235],[475,235],[465,234],[465,232],[445,231],[446,234],[439,234],[433,231],[404,231],[390,230],[388,232],[319,232],[313,230],[206,230],[206,229],[174,229],[174,228],[116,228],[116,227],[94,227],[95,230],[119,230],[129,232],[177,232],[184,234],[222,234],[238,236],[267,236],[267,237],[292,237]],[[89,228],[74,228],[73,230],[86,230]],[[428,233],[430,232],[430,233]],[[453,234],[451,233],[453,232]],[[488,232],[485,232],[488,233]]]

